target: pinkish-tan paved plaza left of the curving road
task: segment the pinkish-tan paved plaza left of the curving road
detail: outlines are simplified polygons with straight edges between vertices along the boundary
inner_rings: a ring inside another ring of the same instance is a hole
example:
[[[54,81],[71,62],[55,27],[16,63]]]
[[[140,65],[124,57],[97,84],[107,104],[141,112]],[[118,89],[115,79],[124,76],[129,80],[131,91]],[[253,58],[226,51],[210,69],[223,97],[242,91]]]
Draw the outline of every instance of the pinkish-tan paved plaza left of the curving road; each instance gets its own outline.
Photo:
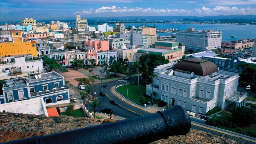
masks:
[[[69,83],[74,86],[78,85],[78,82],[76,80],[74,80],[75,78],[88,77],[88,76],[80,73],[79,71],[70,69],[70,68],[68,68],[68,72],[61,73],[61,75],[64,76],[65,81],[69,81]]]

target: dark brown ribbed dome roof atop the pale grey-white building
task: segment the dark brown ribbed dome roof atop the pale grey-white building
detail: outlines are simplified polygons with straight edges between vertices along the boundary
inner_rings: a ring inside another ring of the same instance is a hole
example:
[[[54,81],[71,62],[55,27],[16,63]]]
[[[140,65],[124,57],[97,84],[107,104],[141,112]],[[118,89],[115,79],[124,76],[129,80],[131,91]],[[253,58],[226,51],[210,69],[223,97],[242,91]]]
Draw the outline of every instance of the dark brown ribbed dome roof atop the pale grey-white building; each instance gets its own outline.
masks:
[[[185,70],[194,72],[198,76],[207,76],[218,71],[217,66],[209,60],[189,58],[174,65],[173,70]]]

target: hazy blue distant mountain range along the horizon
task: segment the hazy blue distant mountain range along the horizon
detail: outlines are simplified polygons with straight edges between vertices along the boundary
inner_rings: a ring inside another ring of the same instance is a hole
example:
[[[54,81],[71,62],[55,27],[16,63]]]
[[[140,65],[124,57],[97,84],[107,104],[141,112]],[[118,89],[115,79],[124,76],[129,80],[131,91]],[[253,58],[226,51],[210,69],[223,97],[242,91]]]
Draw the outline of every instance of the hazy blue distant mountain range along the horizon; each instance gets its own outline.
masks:
[[[219,15],[219,16],[123,16],[123,17],[85,17],[89,24],[100,23],[100,22],[161,22],[161,21],[193,21],[193,22],[204,22],[212,20],[220,20],[221,22],[227,23],[256,23],[256,15]],[[46,22],[56,20],[36,20],[37,22]],[[60,20],[65,22],[76,22],[75,19],[67,18],[66,20]],[[16,21],[20,22],[20,21]],[[1,22],[2,23],[2,22]],[[4,23],[4,22],[3,22]]]

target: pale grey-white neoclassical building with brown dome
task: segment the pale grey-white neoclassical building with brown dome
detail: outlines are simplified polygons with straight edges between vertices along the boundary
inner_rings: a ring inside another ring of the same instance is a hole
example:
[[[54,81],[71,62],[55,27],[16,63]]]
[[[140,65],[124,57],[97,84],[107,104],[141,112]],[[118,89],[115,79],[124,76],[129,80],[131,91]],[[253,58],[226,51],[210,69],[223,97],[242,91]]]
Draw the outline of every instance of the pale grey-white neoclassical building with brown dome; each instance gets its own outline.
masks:
[[[239,73],[218,70],[204,59],[184,59],[154,69],[155,99],[180,105],[188,111],[205,114],[214,107],[245,106],[247,94],[237,92]],[[151,95],[152,84],[146,93]]]

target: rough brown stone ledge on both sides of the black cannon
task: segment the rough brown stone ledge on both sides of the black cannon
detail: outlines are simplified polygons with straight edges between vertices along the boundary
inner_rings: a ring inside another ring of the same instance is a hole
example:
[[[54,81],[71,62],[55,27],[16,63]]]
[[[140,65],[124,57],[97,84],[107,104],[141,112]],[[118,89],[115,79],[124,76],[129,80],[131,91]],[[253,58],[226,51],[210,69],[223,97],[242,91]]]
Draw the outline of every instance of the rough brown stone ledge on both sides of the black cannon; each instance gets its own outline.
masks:
[[[89,127],[98,124],[112,122],[112,120],[93,119],[87,117],[52,116],[33,114],[0,113],[0,143],[10,140],[32,137],[34,135],[46,135],[63,132],[77,128]],[[211,133],[191,129],[185,136],[172,136],[168,139],[157,140],[153,144],[206,144],[226,143],[245,144],[245,141],[237,137],[216,136]]]

